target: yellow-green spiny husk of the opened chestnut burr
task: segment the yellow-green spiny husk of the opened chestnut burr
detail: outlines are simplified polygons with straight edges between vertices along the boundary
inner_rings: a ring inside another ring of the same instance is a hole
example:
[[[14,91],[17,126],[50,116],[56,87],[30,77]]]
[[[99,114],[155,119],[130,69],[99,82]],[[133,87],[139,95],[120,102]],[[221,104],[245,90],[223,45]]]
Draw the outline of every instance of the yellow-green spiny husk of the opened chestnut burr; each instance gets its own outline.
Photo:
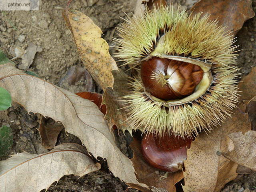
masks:
[[[130,83],[122,99],[127,104],[128,121],[134,129],[158,134],[196,136],[200,130],[212,130],[230,116],[238,102],[238,67],[234,40],[225,28],[208,16],[188,15],[173,7],[147,10],[144,17],[134,17],[118,29],[117,56],[130,68],[154,51],[160,35],[165,34],[161,55],[196,58],[212,64],[214,78],[208,91],[196,100],[164,107],[150,100],[140,76]],[[158,53],[159,54],[159,53]]]

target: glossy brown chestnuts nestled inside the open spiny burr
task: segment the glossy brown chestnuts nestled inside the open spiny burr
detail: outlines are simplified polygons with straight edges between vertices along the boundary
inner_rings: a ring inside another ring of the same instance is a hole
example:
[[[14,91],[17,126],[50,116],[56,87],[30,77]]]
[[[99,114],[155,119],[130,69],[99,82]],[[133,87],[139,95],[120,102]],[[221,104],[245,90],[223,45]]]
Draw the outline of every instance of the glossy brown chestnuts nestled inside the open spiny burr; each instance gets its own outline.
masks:
[[[146,91],[166,101],[192,94],[203,73],[198,65],[158,57],[143,61],[140,69]]]

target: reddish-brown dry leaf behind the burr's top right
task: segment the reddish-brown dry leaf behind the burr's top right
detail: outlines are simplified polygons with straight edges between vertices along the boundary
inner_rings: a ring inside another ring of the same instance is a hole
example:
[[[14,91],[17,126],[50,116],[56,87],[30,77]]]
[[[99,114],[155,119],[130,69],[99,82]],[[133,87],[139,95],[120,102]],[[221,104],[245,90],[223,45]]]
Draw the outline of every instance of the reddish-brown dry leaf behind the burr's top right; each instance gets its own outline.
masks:
[[[255,15],[252,0],[200,0],[190,10],[193,13],[210,13],[210,20],[218,19],[219,24],[226,26],[234,35],[246,20]]]

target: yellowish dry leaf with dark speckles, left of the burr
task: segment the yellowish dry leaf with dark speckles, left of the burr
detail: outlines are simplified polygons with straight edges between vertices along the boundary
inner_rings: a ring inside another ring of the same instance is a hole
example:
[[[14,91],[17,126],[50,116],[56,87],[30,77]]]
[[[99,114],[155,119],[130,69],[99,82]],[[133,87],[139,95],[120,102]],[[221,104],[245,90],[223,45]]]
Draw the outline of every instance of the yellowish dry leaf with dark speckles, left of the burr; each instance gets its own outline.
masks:
[[[66,10],[65,16],[86,69],[104,91],[112,87],[114,77],[111,72],[118,68],[108,52],[108,43],[100,37],[101,29],[82,12]]]

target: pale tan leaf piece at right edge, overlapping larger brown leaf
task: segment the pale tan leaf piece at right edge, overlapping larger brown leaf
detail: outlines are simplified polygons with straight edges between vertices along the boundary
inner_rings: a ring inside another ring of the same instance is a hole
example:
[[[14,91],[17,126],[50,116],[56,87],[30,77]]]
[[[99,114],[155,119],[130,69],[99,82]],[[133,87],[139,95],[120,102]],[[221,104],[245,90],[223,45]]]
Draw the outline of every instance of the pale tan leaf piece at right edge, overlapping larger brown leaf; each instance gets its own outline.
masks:
[[[242,166],[256,171],[256,131],[228,135],[228,148],[222,155]]]

